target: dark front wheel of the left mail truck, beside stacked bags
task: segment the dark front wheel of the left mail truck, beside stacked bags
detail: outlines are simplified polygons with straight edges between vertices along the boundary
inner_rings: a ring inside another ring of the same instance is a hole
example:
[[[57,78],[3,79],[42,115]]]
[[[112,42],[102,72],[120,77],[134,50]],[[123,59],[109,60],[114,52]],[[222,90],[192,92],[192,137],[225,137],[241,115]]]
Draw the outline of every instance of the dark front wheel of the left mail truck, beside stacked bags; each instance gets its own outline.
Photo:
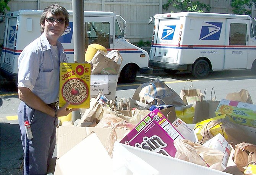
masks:
[[[121,71],[121,82],[122,83],[133,83],[135,81],[137,74],[137,68],[133,67],[133,65],[126,65]]]

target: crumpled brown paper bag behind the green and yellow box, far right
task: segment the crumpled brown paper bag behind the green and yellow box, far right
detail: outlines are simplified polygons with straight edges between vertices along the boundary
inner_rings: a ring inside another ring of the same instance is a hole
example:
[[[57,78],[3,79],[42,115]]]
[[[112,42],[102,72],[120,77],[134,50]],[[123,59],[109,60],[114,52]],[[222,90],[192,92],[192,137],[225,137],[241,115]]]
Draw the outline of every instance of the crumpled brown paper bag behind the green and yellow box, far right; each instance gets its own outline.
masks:
[[[234,93],[227,94],[226,99],[253,104],[253,102],[251,100],[251,95],[245,89],[241,89],[240,92],[234,92]]]

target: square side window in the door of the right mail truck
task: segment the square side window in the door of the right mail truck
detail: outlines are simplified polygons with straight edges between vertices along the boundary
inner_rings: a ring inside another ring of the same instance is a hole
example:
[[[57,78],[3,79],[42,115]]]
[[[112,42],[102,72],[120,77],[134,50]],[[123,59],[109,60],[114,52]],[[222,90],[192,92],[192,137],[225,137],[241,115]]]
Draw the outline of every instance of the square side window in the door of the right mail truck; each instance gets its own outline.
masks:
[[[229,45],[246,45],[246,24],[231,23]]]

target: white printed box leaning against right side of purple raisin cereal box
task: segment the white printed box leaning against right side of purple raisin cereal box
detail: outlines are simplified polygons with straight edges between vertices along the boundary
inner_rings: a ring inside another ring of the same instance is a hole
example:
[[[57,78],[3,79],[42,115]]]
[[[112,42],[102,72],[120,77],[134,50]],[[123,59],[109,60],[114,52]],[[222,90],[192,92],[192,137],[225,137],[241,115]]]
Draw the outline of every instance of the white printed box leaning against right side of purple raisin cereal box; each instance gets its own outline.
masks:
[[[196,137],[196,134],[194,133],[194,126],[190,127],[188,124],[186,124],[184,121],[182,121],[180,118],[177,118],[172,125],[180,132],[180,134],[187,140],[191,140],[192,142],[198,142],[198,138]]]

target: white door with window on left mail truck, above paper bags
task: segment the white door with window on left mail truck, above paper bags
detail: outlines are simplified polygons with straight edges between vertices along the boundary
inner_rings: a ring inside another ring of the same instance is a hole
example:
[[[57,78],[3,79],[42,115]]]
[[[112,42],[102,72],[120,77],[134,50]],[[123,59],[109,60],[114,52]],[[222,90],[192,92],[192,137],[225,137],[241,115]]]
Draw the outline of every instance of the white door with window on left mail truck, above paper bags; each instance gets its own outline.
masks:
[[[92,43],[113,49],[113,17],[88,17],[84,19],[85,48]]]

